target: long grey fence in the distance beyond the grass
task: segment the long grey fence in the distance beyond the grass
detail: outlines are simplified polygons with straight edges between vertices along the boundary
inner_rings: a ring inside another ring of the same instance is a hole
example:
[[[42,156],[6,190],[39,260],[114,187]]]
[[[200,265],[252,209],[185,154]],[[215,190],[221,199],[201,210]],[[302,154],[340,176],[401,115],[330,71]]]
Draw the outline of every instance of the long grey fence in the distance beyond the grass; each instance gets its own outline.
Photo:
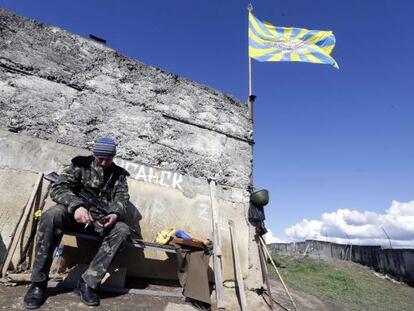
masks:
[[[308,255],[317,259],[350,260],[414,286],[414,249],[383,249],[381,246],[345,245],[306,240],[273,243],[268,248],[280,255]]]

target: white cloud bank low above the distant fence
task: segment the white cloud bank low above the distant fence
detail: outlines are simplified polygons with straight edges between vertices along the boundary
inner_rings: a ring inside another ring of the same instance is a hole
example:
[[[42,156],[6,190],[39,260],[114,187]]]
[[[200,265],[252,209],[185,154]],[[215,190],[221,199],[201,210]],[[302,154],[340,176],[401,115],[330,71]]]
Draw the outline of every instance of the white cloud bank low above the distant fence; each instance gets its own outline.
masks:
[[[393,201],[384,214],[339,209],[320,220],[303,219],[287,229],[293,240],[317,239],[336,243],[414,248],[414,201]]]

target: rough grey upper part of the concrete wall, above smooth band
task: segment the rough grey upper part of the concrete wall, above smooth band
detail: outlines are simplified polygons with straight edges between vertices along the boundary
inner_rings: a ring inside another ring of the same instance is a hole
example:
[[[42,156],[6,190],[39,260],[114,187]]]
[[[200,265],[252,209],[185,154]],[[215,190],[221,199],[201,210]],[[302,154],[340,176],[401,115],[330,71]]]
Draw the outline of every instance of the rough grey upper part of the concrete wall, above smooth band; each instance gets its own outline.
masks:
[[[91,40],[0,9],[0,127],[247,189],[245,104]]]

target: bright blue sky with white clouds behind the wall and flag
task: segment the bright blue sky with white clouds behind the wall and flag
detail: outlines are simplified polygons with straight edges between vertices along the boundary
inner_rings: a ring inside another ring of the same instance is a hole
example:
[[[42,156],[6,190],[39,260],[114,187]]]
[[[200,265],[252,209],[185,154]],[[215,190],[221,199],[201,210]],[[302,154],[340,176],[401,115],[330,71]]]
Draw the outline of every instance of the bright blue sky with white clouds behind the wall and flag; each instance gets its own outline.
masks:
[[[0,6],[84,37],[95,34],[126,56],[245,100],[248,3]],[[391,238],[405,230],[400,244],[414,247],[414,2],[252,3],[253,14],[274,25],[332,30],[340,66],[253,61],[254,183],[270,191],[267,227],[284,240],[340,239],[346,231],[356,242],[376,243],[384,227]],[[369,234],[355,227],[361,223],[371,226]]]

